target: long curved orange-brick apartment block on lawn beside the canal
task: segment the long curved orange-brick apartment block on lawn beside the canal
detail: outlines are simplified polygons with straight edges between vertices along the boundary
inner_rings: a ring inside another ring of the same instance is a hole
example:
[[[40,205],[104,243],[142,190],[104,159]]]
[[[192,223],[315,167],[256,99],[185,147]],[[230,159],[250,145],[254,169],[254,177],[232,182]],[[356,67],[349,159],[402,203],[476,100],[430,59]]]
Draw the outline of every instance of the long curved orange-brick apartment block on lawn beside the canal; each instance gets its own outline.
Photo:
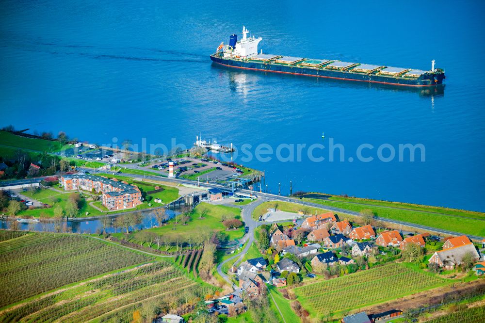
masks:
[[[64,175],[59,184],[66,191],[94,190],[102,193],[103,206],[108,210],[124,210],[135,208],[143,203],[143,196],[138,187],[117,179],[108,179],[87,174]]]

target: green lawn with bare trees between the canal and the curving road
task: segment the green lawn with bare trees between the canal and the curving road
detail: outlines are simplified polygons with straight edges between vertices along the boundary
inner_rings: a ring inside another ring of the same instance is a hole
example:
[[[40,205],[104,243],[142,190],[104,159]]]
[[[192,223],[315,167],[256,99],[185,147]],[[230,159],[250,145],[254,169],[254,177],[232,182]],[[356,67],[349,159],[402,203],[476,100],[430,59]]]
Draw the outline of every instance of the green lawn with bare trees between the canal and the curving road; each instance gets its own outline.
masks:
[[[199,216],[203,210],[207,210],[207,214],[204,219],[200,219]],[[154,231],[160,235],[181,237],[182,241],[188,241],[188,238],[197,240],[201,235],[208,234],[212,231],[222,233],[228,240],[240,239],[244,234],[244,227],[237,230],[226,230],[226,227],[222,224],[221,218],[226,215],[228,218],[233,218],[240,215],[240,210],[223,205],[212,205],[205,202],[200,203],[195,208],[194,212],[190,215],[190,221],[187,225],[179,223],[175,224],[175,219],[170,220],[168,225],[148,229]],[[175,229],[174,229],[175,227]]]

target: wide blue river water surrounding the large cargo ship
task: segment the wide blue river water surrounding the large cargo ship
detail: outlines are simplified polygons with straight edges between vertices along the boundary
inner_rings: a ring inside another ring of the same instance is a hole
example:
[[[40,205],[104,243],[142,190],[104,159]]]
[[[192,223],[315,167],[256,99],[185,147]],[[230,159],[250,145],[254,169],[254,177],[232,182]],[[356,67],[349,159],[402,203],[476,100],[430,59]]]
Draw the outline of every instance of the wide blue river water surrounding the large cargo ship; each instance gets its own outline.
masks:
[[[485,211],[483,1],[104,2],[1,1],[2,125],[99,144],[192,145],[201,133],[276,149],[333,138],[345,161],[245,163],[266,171],[272,192],[280,182],[288,194],[291,180],[293,191]],[[243,24],[266,53],[420,69],[435,59],[446,86],[423,93],[211,65]],[[382,144],[422,144],[425,161],[357,161],[365,143],[374,157]]]

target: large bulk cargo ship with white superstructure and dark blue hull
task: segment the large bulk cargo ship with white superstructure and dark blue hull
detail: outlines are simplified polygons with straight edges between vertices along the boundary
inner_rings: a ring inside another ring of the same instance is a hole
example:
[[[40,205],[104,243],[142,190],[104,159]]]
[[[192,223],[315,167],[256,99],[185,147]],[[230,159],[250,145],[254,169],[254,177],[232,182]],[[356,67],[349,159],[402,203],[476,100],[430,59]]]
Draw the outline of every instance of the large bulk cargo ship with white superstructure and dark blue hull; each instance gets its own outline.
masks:
[[[430,70],[342,62],[331,59],[312,59],[258,53],[261,37],[248,37],[249,31],[242,27],[242,39],[229,37],[229,44],[222,42],[210,59],[219,65],[273,73],[304,75],[327,79],[361,81],[403,86],[435,86],[443,83],[445,71],[435,67]]]

